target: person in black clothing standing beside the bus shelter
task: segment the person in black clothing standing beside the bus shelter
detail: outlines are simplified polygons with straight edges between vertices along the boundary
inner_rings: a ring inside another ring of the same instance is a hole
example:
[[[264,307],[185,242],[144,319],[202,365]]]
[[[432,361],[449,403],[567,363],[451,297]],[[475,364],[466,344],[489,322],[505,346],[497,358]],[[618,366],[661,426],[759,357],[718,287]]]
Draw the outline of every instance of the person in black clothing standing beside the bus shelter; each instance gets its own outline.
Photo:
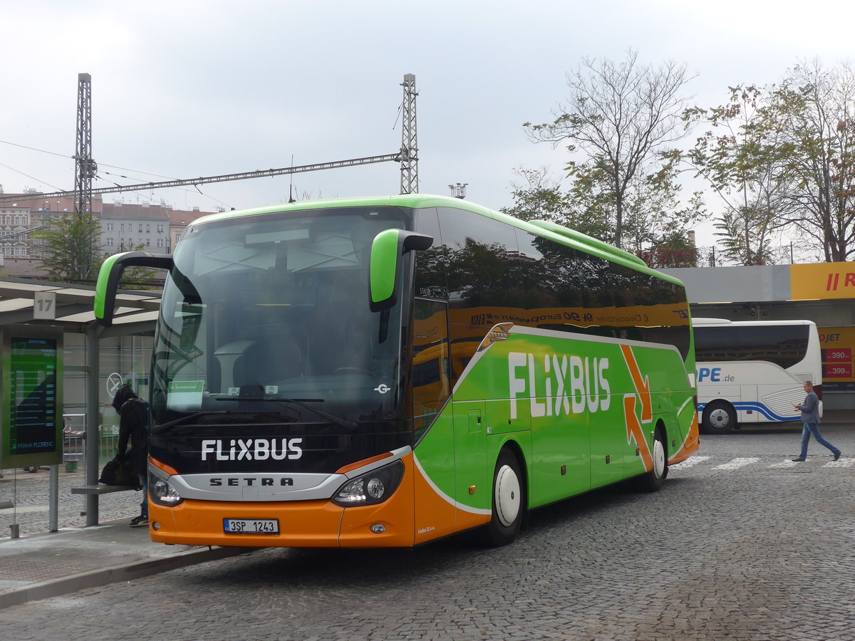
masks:
[[[119,415],[119,450],[118,456],[124,460],[130,456],[134,473],[139,478],[143,488],[143,501],[139,503],[139,516],[131,520],[131,527],[142,527],[149,524],[148,501],[148,403],[136,395],[131,385],[121,385],[113,397],[113,408]],[[127,446],[130,442],[131,450]]]

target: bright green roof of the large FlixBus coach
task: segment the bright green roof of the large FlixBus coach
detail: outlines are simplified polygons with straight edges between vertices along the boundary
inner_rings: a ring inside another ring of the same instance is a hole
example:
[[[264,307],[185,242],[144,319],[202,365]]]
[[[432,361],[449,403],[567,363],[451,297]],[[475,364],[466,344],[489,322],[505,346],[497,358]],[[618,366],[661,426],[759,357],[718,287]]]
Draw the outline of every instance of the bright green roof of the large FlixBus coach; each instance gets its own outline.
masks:
[[[265,207],[239,209],[203,216],[197,221],[193,221],[190,226],[204,225],[205,223],[213,221],[224,221],[230,218],[238,218],[242,216],[278,214],[289,210],[304,211],[306,209],[369,207],[371,205],[408,207],[412,209],[425,209],[428,207],[453,207],[456,209],[466,209],[474,214],[502,221],[508,225],[516,226],[537,236],[550,238],[558,243],[573,247],[576,250],[584,251],[587,254],[593,254],[594,256],[599,256],[613,262],[622,263],[628,268],[652,273],[659,279],[667,280],[671,283],[675,283],[676,285],[683,286],[680,279],[648,267],[646,262],[642,261],[638,256],[605,243],[598,238],[593,238],[582,232],[577,232],[575,229],[570,229],[569,227],[561,226],[551,221],[522,221],[514,216],[503,214],[492,209],[487,209],[486,207],[472,203],[468,200],[450,196],[436,196],[431,194],[399,194],[396,196],[327,198],[324,200],[308,200],[295,203],[278,203]]]

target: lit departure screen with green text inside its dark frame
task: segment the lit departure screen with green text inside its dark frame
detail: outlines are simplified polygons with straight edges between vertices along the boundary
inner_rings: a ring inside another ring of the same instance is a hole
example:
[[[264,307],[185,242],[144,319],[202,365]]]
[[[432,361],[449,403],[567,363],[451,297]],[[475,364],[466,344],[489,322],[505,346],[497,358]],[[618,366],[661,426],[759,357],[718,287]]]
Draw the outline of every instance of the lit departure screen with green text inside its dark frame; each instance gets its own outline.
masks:
[[[9,454],[56,452],[56,339],[10,339]]]

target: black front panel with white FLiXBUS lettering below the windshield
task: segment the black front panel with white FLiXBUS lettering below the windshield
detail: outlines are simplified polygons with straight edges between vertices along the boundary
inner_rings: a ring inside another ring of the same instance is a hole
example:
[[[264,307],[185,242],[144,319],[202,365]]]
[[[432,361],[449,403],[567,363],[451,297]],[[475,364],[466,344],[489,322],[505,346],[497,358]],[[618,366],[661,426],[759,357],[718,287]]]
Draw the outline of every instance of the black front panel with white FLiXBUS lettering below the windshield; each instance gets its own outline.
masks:
[[[150,454],[181,474],[334,473],[339,468],[412,445],[399,421],[332,424],[210,424],[152,434]]]

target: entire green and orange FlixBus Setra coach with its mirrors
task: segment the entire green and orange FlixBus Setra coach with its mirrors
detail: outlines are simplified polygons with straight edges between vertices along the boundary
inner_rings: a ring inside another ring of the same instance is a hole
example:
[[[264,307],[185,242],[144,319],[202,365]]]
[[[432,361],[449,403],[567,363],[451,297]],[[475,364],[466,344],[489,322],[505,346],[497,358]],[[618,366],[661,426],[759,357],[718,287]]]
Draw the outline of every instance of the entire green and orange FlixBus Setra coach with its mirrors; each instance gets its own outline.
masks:
[[[551,222],[451,197],[209,215],[173,255],[150,374],[150,535],[165,544],[413,546],[698,448],[677,279]]]

